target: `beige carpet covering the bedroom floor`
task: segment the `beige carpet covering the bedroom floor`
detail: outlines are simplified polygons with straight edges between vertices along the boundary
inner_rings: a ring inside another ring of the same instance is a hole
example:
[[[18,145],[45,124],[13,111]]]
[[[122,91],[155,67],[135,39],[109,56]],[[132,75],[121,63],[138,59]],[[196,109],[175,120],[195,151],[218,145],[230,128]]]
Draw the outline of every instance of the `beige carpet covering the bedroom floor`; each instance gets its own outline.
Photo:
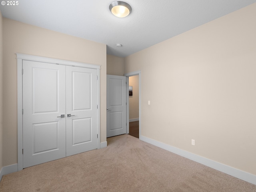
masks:
[[[130,135],[4,175],[1,192],[256,192],[256,186]]]

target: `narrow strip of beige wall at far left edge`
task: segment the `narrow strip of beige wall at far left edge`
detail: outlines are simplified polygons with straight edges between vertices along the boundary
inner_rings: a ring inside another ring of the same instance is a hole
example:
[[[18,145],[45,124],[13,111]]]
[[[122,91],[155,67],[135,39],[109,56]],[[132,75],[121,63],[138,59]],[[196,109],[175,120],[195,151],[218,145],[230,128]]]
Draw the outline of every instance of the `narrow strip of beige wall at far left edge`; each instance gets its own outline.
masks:
[[[0,171],[3,167],[3,18],[0,10]]]

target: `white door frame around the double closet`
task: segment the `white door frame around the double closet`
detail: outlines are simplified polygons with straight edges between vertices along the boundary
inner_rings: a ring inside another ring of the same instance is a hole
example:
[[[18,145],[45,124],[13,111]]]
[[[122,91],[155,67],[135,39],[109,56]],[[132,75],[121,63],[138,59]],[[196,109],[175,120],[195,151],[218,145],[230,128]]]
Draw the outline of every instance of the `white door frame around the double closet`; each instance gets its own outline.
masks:
[[[97,148],[100,149],[100,65],[96,64],[88,64],[82,62],[74,62],[68,60],[54,59],[48,57],[34,56],[28,54],[20,54],[16,53],[17,57],[17,117],[18,117],[18,171],[23,169],[23,120],[22,120],[22,109],[23,109],[23,98],[22,98],[22,63],[23,60],[35,61],[35,62],[44,62],[50,64],[60,64],[60,65],[68,65],[68,66],[76,66],[76,67],[84,67],[84,68],[92,68],[97,69]]]

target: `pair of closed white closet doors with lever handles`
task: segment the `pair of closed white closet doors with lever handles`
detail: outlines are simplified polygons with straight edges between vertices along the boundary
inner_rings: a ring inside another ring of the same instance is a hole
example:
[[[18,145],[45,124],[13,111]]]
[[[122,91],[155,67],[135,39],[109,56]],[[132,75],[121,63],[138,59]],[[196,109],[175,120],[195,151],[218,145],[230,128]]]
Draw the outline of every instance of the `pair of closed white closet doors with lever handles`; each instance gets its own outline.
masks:
[[[23,60],[23,168],[97,148],[97,70]]]

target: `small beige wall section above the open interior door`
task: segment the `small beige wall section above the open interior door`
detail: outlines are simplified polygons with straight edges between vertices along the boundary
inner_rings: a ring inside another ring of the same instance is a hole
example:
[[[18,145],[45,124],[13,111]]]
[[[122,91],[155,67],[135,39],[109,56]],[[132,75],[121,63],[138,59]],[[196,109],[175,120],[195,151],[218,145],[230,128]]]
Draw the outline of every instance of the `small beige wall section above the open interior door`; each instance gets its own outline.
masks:
[[[107,55],[107,74],[124,75],[124,58]]]

